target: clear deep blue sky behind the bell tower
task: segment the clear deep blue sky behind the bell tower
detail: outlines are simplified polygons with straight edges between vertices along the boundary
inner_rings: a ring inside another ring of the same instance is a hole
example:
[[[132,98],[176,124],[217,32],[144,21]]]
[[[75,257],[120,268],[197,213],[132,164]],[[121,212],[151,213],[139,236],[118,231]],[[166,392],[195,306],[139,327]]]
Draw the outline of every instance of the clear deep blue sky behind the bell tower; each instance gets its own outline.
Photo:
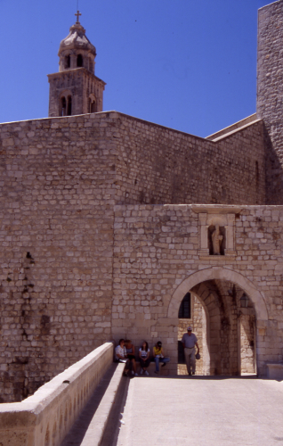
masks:
[[[208,136],[255,112],[257,10],[265,0],[79,0],[117,110]],[[48,116],[46,74],[77,0],[0,0],[0,122]]]

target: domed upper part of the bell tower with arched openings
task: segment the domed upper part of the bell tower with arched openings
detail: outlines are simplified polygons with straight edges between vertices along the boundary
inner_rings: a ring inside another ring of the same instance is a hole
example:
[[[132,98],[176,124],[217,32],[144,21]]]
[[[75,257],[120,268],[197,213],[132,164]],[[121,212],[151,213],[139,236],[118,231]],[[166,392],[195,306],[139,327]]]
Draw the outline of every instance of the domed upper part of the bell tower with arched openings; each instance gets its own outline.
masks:
[[[79,22],[70,27],[69,35],[61,41],[59,47],[60,71],[84,67],[94,74],[94,59],[96,56],[95,46],[85,36],[85,28]]]

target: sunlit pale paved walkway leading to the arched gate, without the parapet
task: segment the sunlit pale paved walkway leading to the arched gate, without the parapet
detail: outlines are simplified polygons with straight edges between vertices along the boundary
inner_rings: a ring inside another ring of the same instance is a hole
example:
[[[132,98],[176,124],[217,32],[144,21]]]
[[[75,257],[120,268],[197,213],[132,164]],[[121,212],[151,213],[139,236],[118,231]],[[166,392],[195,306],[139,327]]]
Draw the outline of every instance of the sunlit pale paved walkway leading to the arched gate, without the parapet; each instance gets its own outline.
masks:
[[[283,446],[283,382],[133,378],[118,446]]]

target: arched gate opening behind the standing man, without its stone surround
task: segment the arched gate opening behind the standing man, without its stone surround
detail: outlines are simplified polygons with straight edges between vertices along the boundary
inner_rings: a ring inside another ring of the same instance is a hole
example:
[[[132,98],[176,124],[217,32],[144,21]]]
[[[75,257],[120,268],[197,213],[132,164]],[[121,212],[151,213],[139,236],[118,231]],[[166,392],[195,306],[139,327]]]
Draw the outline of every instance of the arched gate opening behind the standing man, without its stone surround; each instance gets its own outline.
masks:
[[[255,308],[247,293],[228,280],[206,280],[186,293],[178,312],[178,375],[186,375],[182,335],[192,326],[201,359],[197,375],[256,373]]]

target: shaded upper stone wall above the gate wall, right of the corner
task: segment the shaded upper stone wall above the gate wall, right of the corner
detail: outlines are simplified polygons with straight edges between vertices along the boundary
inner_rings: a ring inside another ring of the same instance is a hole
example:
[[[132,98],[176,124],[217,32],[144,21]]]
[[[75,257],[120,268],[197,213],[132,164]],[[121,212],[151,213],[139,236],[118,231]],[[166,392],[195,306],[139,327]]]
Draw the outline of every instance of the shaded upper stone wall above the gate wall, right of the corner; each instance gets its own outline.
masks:
[[[121,203],[265,203],[263,122],[213,143],[117,113]]]

